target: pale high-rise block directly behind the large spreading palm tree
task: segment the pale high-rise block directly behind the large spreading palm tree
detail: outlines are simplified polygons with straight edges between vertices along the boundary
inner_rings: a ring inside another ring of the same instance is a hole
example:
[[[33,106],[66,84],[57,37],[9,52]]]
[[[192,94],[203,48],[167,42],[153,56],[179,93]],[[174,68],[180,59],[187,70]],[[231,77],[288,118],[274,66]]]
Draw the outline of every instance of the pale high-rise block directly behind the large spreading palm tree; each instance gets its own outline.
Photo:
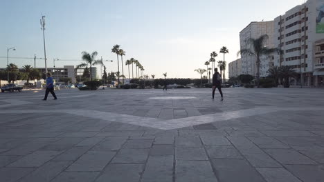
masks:
[[[269,36],[264,43],[265,46],[273,48],[273,32],[274,32],[274,23],[273,21],[253,21],[246,28],[240,32],[240,48],[242,49],[251,49],[252,45],[249,43],[249,39],[258,39],[264,34]],[[256,58],[253,55],[242,54],[242,74],[251,74],[256,76],[257,66]],[[262,57],[260,65],[260,77],[267,77],[268,70],[273,66],[273,54]]]

